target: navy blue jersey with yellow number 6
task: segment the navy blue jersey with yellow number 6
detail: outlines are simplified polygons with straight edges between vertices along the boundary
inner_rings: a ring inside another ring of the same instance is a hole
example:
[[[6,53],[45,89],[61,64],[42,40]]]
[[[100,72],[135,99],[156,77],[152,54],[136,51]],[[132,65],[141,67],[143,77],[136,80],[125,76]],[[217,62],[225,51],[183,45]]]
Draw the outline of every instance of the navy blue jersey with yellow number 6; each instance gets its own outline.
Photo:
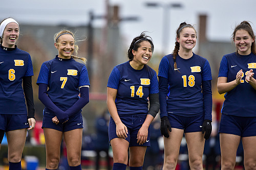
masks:
[[[0,48],[0,114],[28,114],[22,79],[33,75],[29,53]]]

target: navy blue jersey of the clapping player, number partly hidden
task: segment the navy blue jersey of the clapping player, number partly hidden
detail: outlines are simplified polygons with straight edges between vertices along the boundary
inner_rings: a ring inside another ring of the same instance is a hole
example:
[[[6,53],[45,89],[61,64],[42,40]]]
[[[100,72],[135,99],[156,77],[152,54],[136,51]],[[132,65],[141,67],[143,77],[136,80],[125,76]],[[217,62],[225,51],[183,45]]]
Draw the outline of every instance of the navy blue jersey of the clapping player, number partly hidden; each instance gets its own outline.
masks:
[[[247,71],[250,69],[256,72],[256,56],[237,55],[231,53],[224,55],[219,70],[219,77],[226,77],[227,82],[236,80],[238,71],[243,70],[241,83],[226,92],[222,113],[234,116],[255,117],[256,90],[245,80]]]

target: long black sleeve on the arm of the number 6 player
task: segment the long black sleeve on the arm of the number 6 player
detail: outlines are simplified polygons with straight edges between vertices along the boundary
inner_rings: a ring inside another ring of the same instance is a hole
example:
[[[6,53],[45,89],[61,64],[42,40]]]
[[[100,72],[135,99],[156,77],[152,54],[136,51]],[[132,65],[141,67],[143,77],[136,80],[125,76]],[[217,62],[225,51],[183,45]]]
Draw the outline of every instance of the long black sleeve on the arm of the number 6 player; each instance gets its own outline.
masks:
[[[32,76],[23,77],[23,90],[28,107],[28,118],[35,118]]]

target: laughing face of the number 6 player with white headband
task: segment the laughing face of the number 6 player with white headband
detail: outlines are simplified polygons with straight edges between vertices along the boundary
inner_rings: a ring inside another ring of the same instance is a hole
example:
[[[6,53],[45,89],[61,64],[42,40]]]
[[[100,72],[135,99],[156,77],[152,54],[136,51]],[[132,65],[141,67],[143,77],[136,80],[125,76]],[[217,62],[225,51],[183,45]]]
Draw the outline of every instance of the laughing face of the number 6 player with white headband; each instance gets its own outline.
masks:
[[[15,43],[18,40],[18,36],[19,36],[19,27],[17,23],[15,22],[8,23],[3,33],[2,45],[4,47],[14,48]]]

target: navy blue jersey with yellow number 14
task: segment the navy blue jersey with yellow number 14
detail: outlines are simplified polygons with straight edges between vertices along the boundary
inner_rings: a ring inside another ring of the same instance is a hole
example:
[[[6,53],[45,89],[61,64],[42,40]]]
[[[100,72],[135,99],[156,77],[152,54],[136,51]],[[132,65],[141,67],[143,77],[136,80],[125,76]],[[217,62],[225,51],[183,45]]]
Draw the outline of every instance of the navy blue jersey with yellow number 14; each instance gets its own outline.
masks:
[[[117,89],[115,103],[119,115],[147,114],[148,94],[159,92],[156,71],[148,65],[136,70],[129,61],[113,68],[107,86]]]

